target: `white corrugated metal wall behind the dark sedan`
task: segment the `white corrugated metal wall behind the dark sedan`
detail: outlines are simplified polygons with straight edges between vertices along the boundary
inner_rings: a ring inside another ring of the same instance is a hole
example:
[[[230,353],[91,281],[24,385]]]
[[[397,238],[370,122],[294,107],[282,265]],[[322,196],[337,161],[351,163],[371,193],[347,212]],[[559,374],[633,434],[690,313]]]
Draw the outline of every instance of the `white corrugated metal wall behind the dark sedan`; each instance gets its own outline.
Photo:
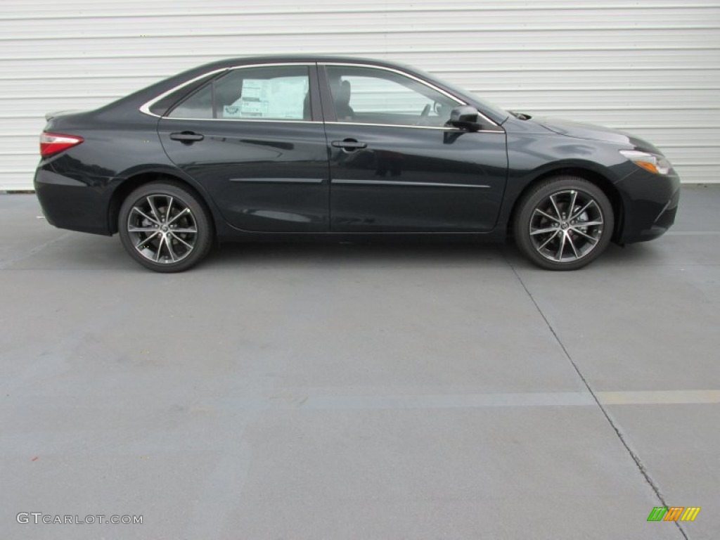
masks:
[[[717,0],[0,0],[0,189],[28,189],[43,114],[200,63],[389,58],[503,107],[598,122],[719,181]]]

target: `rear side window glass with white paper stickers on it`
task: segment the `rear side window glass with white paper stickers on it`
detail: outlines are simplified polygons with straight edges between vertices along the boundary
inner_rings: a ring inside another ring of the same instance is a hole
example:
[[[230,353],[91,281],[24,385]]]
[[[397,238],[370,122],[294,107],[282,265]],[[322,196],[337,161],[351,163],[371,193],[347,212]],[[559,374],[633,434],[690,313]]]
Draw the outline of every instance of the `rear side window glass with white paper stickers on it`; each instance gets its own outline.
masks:
[[[307,66],[238,68],[188,96],[171,118],[311,120]]]

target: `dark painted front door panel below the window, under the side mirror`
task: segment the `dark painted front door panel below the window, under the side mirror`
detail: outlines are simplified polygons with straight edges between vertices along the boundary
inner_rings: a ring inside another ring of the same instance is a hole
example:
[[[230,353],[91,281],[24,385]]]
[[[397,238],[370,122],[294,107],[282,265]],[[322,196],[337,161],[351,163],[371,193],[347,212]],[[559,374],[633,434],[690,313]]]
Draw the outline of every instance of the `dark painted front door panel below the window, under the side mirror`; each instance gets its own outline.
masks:
[[[505,190],[505,132],[330,124],[331,228],[337,232],[492,230]]]

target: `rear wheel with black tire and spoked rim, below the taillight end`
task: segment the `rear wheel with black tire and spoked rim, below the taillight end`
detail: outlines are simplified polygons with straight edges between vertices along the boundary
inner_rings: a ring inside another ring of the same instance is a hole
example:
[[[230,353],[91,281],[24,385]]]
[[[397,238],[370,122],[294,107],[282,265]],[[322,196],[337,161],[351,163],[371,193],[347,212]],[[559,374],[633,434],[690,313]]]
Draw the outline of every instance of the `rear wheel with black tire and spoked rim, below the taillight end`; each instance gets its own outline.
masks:
[[[167,273],[199,263],[215,236],[203,202],[173,181],[152,182],[130,193],[120,207],[117,230],[135,261]]]

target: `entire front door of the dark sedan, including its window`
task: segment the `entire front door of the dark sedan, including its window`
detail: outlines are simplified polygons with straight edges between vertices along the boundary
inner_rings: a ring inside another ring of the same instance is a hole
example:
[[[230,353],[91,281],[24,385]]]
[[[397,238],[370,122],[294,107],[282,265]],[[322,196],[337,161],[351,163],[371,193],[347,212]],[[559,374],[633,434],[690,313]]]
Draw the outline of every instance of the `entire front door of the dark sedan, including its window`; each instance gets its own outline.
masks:
[[[446,127],[462,102],[395,70],[338,64],[321,73],[323,98],[332,102],[325,108],[331,230],[495,227],[508,168],[502,127]]]

